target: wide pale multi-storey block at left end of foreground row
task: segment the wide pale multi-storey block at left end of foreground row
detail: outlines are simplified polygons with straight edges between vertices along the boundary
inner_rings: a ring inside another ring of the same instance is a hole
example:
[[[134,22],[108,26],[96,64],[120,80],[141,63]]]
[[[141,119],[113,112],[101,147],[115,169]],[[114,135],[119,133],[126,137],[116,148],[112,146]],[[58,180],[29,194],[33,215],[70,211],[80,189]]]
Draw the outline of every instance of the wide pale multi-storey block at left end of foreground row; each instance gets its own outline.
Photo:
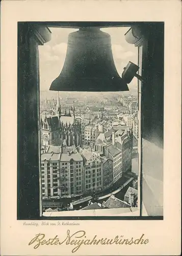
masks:
[[[79,153],[41,155],[43,198],[76,197],[84,193],[83,158]]]

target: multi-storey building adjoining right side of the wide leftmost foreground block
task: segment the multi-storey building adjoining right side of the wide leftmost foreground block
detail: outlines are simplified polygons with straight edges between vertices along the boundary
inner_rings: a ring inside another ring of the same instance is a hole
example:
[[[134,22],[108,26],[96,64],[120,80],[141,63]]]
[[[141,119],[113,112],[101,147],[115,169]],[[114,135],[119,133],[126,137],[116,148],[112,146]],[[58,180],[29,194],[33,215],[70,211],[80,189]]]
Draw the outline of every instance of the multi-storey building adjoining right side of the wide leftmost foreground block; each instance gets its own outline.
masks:
[[[80,152],[84,159],[85,193],[102,189],[102,162],[99,154],[88,151],[86,148]]]

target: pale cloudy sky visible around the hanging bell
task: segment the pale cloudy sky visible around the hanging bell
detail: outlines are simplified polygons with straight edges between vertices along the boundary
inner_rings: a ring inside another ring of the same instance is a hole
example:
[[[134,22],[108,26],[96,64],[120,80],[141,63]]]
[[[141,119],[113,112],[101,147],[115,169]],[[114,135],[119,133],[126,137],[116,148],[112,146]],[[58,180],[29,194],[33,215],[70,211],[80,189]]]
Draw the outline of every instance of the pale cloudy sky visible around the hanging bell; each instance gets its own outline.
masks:
[[[103,28],[101,31],[111,35],[112,52],[118,74],[121,76],[128,61],[138,63],[138,49],[128,44],[124,34],[129,28]],[[68,34],[78,29],[50,28],[51,40],[39,46],[40,90],[49,91],[53,82],[61,73],[67,51]],[[128,84],[129,91],[137,93],[137,78]],[[49,91],[50,93],[51,91]],[[51,93],[50,93],[51,94]]]

